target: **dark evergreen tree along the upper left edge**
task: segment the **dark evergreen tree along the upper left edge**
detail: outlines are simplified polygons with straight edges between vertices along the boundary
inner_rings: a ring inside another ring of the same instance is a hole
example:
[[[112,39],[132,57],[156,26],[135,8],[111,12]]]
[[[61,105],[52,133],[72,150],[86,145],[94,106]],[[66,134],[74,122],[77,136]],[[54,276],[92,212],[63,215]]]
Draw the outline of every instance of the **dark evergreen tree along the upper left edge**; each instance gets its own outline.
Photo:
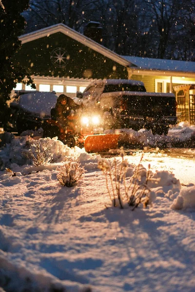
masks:
[[[18,82],[33,84],[27,68],[15,60],[20,50],[19,36],[23,33],[25,19],[21,12],[28,8],[29,0],[0,0],[0,122],[4,123],[8,114],[9,94]],[[35,85],[32,85],[35,88]]]

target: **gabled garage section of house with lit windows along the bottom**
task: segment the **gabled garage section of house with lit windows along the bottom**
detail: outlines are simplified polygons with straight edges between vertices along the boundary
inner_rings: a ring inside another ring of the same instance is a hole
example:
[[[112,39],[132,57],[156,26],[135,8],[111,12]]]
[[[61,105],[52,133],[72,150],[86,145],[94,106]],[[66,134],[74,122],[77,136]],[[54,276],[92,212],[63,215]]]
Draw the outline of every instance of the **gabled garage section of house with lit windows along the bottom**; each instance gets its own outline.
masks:
[[[128,78],[128,60],[63,24],[23,35],[20,40],[17,59],[30,65],[39,91],[75,96],[94,79]]]

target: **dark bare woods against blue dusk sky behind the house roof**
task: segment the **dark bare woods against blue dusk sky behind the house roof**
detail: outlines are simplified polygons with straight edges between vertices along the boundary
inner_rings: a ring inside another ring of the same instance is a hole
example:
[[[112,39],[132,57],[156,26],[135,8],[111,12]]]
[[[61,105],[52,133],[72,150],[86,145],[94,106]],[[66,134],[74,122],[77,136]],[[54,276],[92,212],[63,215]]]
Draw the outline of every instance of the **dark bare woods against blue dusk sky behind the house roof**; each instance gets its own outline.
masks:
[[[195,0],[30,0],[26,32],[57,23],[83,33],[98,21],[119,55],[194,60]]]

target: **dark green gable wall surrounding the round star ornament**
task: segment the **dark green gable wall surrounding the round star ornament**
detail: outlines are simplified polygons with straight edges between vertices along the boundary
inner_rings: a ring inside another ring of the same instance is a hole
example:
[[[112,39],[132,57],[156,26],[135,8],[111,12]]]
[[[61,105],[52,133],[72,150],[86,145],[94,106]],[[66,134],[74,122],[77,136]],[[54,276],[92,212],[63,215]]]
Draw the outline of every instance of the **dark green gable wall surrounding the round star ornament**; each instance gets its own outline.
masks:
[[[67,52],[69,60],[58,68],[50,54],[56,48]],[[32,66],[31,74],[74,78],[128,78],[127,69],[62,33],[22,44],[16,55],[20,64]],[[113,70],[115,68],[116,70]]]

